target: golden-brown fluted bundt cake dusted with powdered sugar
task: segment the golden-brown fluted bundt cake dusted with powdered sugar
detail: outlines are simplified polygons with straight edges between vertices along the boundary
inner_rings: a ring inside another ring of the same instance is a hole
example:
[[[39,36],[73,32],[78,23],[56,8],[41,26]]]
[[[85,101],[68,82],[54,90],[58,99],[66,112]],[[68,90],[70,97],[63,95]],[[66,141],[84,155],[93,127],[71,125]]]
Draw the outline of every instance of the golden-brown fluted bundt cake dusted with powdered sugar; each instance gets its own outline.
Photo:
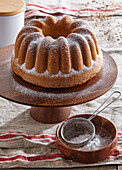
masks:
[[[81,19],[69,16],[33,19],[19,32],[12,70],[25,81],[47,88],[85,83],[102,68],[95,34]]]

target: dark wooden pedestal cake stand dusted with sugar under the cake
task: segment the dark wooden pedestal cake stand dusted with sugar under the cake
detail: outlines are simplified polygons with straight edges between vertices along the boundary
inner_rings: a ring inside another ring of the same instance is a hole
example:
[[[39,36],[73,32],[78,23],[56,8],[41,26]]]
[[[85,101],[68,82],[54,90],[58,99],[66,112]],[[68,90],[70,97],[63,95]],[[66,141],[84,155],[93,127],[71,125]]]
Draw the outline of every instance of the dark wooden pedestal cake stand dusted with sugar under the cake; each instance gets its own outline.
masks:
[[[11,70],[13,49],[14,45],[11,45],[0,50],[0,96],[30,105],[31,116],[39,122],[61,122],[69,116],[72,105],[103,95],[111,89],[117,78],[115,61],[103,52],[103,68],[88,82],[66,89],[39,87],[24,81]]]

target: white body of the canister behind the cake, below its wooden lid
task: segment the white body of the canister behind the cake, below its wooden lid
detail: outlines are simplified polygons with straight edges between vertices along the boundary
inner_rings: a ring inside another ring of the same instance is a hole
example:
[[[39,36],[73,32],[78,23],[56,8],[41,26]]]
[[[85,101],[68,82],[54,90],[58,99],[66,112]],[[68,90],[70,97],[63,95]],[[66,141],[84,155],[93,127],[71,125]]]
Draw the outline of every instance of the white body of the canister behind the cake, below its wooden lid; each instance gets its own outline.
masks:
[[[0,16],[0,48],[14,44],[23,26],[24,11],[15,15]]]

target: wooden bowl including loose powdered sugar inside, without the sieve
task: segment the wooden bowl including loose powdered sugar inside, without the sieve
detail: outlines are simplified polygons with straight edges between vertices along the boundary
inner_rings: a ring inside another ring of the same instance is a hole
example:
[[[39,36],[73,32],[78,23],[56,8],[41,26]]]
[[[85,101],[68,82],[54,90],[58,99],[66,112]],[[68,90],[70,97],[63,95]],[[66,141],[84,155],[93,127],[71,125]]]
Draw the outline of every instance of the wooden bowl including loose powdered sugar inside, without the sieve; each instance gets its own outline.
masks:
[[[81,114],[70,117],[68,120],[73,118],[88,119],[90,116],[90,114]],[[79,148],[67,145],[62,139],[61,128],[65,121],[57,128],[56,144],[66,159],[82,163],[95,163],[107,159],[116,149],[117,130],[115,125],[110,120],[98,115],[91,121],[95,126],[95,138]]]

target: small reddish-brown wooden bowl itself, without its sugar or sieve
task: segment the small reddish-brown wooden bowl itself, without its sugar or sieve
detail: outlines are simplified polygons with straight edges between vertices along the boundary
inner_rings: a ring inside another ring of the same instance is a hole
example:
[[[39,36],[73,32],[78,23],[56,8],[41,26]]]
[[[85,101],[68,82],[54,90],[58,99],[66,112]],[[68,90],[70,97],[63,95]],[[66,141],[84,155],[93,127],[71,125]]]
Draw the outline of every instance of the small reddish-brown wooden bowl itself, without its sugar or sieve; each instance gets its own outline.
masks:
[[[89,118],[90,116],[90,114],[82,114],[70,117],[68,119],[74,117]],[[96,116],[92,122],[95,125],[96,134],[104,136],[105,138],[111,138],[111,142],[107,146],[98,150],[79,150],[77,148],[72,148],[68,146],[61,138],[60,130],[63,125],[62,123],[56,131],[56,144],[59,151],[65,156],[65,158],[72,159],[76,162],[95,163],[108,158],[114,152],[117,145],[117,130],[114,124],[101,116]]]

